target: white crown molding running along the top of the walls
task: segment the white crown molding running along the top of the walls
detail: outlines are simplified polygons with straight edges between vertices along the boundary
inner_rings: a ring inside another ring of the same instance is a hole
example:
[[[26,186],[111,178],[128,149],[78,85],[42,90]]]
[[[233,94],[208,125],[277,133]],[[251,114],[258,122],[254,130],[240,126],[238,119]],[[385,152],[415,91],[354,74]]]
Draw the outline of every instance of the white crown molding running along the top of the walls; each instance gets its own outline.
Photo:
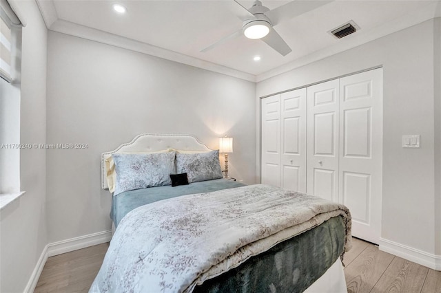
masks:
[[[211,72],[225,74],[227,76],[240,78],[254,83],[259,83],[260,81],[278,76],[280,74],[284,74],[298,67],[305,66],[309,63],[314,63],[334,54],[345,52],[353,47],[357,47],[364,43],[380,39],[383,36],[387,36],[388,34],[392,34],[394,32],[404,30],[405,28],[409,28],[412,25],[417,25],[418,23],[428,21],[429,19],[440,17],[441,14],[441,1],[430,1],[427,6],[424,6],[424,8],[413,11],[410,14],[403,15],[402,17],[399,17],[397,19],[393,19],[389,21],[387,25],[373,28],[369,30],[369,32],[365,32],[361,35],[352,34],[350,36],[347,36],[345,39],[338,40],[338,42],[331,47],[325,47],[322,50],[318,50],[316,52],[308,54],[307,56],[297,58],[296,60],[291,61],[285,65],[270,69],[269,71],[263,72],[262,74],[254,75],[247,72],[241,72],[239,70],[232,69],[223,65],[218,65],[209,61],[203,61],[192,56],[187,56],[185,54],[163,49],[161,47],[156,47],[154,45],[143,43],[141,41],[135,41],[133,39],[125,38],[123,36],[118,36],[116,34],[111,34],[109,32],[96,30],[94,28],[89,28],[84,25],[79,25],[77,23],[72,23],[70,21],[59,19],[57,10],[52,0],[36,1],[48,30],[60,32],[63,34],[69,34],[71,36],[77,36],[82,39],[88,39],[107,45],[113,45],[115,47],[121,47],[123,49],[132,50],[134,52],[156,56],[158,58],[183,63],[185,65],[206,69]]]

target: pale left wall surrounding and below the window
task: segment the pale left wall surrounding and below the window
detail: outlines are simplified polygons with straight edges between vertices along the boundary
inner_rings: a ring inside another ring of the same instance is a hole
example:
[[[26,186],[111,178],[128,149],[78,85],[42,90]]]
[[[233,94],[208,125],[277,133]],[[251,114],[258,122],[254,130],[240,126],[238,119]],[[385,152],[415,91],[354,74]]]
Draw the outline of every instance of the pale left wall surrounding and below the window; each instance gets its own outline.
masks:
[[[21,143],[45,142],[47,30],[37,3],[17,1],[23,28]],[[0,292],[23,292],[48,243],[45,220],[45,151],[21,151],[21,190],[17,202],[1,210]]]

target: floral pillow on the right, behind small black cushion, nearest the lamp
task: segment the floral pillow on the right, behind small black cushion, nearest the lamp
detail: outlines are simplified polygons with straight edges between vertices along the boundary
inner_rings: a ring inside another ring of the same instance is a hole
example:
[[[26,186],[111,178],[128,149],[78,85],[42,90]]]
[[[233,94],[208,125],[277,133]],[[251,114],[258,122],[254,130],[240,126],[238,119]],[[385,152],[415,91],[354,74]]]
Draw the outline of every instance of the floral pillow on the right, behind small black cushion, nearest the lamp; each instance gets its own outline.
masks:
[[[187,173],[189,183],[222,178],[219,151],[176,153],[176,173]]]

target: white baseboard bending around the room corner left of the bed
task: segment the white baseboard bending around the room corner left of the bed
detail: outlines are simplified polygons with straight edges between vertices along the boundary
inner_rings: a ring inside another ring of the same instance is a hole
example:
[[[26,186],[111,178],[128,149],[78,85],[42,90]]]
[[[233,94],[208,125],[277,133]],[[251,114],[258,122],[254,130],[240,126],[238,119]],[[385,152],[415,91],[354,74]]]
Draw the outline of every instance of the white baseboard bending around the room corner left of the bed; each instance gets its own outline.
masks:
[[[48,261],[48,257],[53,257],[54,255],[109,242],[110,239],[112,239],[112,230],[49,243],[47,246],[45,246],[45,248],[43,248],[43,252],[41,252],[39,261],[37,261],[37,265],[35,265],[34,271],[30,276],[24,292],[34,292],[35,287],[37,286],[37,283],[40,279],[41,272],[43,271],[44,265],[46,261]]]

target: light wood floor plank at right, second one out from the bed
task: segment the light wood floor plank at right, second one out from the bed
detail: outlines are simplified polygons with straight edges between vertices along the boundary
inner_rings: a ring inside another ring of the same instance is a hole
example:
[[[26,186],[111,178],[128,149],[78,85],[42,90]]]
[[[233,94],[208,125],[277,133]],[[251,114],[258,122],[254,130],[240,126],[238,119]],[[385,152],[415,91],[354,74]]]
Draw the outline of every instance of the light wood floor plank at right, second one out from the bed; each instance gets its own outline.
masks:
[[[373,287],[373,293],[420,292],[429,268],[395,257],[389,268]]]

